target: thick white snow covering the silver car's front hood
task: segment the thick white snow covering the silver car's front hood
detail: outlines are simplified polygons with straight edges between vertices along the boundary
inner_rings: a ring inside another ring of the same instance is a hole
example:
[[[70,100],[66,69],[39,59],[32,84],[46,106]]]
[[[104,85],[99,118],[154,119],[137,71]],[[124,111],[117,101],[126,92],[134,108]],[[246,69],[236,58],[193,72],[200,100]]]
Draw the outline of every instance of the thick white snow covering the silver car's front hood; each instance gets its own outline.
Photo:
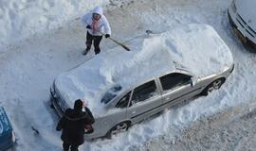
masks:
[[[183,25],[159,37],[158,45],[166,49],[171,58],[186,66],[195,76],[210,76],[229,68],[233,63],[228,45],[210,25]],[[150,49],[150,41],[144,49]]]

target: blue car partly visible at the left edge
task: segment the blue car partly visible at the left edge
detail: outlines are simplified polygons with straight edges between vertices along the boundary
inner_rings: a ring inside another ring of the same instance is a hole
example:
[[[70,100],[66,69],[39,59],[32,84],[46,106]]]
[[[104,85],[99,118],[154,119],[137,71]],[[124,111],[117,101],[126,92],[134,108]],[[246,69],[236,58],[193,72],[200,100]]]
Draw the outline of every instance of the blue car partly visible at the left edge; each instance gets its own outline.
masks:
[[[8,150],[15,143],[15,136],[9,118],[3,107],[0,107],[0,150]]]

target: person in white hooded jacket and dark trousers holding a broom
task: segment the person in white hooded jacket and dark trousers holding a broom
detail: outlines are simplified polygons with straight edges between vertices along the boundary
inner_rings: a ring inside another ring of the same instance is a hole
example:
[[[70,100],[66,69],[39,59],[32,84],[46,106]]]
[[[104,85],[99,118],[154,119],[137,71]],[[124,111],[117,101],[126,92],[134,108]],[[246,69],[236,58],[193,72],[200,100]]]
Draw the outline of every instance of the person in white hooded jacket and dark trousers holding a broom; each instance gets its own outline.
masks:
[[[82,25],[86,26],[87,34],[86,34],[86,48],[82,52],[82,55],[86,55],[91,49],[91,45],[94,45],[95,54],[99,54],[101,52],[100,43],[102,37],[104,36],[106,39],[110,38],[111,35],[111,27],[103,15],[103,9],[101,7],[96,7],[82,16]]]

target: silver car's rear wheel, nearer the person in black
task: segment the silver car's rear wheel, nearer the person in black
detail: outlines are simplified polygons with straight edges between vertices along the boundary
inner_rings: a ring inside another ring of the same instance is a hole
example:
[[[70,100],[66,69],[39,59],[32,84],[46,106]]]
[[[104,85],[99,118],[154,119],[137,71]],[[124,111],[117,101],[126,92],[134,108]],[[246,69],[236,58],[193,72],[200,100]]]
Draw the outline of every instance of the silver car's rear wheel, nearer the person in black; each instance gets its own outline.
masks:
[[[117,134],[126,131],[130,126],[130,122],[121,122],[119,125],[114,126],[107,134],[107,138],[112,138]]]

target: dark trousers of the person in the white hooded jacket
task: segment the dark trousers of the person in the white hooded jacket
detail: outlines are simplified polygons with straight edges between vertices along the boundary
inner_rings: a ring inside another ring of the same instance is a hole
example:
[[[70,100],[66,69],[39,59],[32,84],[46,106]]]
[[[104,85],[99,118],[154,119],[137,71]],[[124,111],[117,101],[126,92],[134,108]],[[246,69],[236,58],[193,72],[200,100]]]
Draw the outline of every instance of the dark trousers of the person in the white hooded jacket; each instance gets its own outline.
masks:
[[[92,42],[93,42],[93,45],[94,45],[94,52],[95,54],[99,54],[101,52],[101,49],[100,49],[100,42],[102,40],[102,36],[93,36],[91,35],[88,31],[87,31],[87,34],[86,34],[86,50],[89,51],[91,49],[91,45],[92,45]]]

